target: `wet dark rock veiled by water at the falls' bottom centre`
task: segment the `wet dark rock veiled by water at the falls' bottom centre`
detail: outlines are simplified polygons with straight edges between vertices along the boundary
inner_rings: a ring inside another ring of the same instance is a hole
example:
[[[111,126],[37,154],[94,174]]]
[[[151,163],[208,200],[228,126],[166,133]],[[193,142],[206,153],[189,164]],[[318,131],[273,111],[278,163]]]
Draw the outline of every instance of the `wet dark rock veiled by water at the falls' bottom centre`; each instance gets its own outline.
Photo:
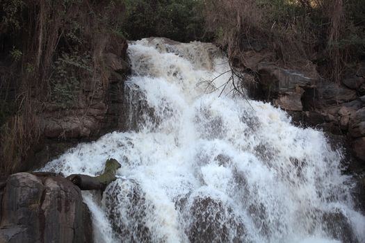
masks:
[[[186,235],[190,242],[248,242],[246,229],[232,208],[209,196],[197,196],[188,203],[189,224]]]

